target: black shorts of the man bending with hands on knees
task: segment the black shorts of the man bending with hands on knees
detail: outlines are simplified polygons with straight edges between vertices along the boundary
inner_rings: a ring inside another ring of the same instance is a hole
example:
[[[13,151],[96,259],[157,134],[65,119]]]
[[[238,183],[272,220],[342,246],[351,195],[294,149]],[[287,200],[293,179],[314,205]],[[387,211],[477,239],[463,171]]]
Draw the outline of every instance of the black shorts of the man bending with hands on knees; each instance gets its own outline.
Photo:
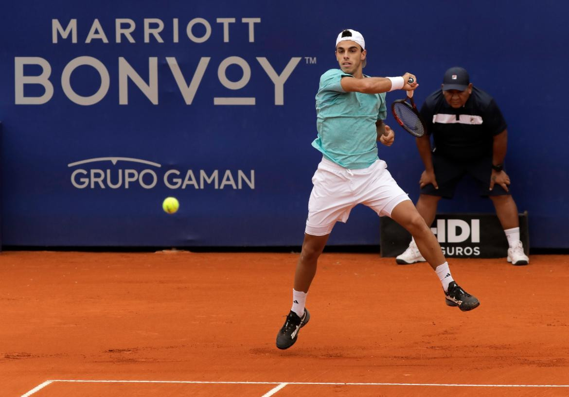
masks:
[[[471,175],[479,184],[480,196],[503,196],[510,194],[498,184],[494,184],[494,188],[491,191],[489,190],[490,176],[492,176],[491,157],[473,160],[468,163],[459,163],[442,156],[433,155],[432,165],[435,169],[435,179],[439,188],[435,189],[432,184],[428,184],[421,189],[422,195],[452,198],[455,194],[456,185],[466,174]]]

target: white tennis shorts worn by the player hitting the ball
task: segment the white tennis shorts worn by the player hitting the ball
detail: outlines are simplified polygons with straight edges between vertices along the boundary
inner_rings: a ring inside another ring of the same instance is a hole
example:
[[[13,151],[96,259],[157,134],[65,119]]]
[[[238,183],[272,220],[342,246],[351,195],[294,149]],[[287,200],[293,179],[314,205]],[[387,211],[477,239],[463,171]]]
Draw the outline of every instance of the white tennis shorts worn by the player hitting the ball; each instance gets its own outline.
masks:
[[[380,159],[368,168],[348,169],[323,158],[312,184],[305,230],[311,235],[331,233],[336,222],[345,223],[358,204],[369,206],[380,216],[391,216],[397,204],[410,200]]]

